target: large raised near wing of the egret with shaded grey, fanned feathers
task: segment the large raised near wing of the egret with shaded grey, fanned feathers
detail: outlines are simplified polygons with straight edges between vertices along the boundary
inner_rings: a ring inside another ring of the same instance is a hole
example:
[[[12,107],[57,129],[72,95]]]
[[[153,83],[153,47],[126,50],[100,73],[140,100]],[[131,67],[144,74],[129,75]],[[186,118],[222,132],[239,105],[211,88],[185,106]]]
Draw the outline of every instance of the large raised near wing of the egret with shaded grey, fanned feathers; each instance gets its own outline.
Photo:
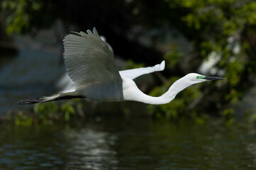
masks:
[[[122,98],[122,78],[114,63],[114,54],[96,28],[92,31],[65,36],[64,59],[68,76],[88,98],[103,101]]]

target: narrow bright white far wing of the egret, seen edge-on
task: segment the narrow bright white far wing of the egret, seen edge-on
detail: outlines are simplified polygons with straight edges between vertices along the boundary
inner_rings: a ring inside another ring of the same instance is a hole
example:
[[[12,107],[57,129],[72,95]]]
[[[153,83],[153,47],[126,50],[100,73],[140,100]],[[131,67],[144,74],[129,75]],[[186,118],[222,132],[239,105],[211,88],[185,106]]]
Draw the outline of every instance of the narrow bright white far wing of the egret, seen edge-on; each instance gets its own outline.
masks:
[[[144,74],[149,74],[151,72],[159,72],[164,70],[165,62],[162,61],[161,64],[156,64],[154,67],[142,67],[138,69],[127,69],[120,71],[119,74],[123,78],[135,79]]]

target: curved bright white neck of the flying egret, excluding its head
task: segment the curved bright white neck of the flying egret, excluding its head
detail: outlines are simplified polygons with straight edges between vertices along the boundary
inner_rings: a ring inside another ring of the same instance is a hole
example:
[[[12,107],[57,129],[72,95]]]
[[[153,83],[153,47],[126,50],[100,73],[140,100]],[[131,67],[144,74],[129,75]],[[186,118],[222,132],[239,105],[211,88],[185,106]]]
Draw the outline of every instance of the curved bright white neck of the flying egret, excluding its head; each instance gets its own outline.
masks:
[[[133,81],[134,82],[134,81]],[[133,85],[136,86],[134,83]],[[178,79],[177,81],[174,82],[174,84],[171,85],[168,91],[166,91],[165,94],[159,96],[159,97],[154,97],[154,96],[149,96],[144,94],[142,91],[140,91],[137,86],[132,87],[132,90],[125,91],[124,89],[124,100],[128,101],[140,101],[143,103],[149,103],[149,104],[166,104],[172,101],[176,94],[178,92],[182,91],[189,85],[186,83],[186,79]]]

